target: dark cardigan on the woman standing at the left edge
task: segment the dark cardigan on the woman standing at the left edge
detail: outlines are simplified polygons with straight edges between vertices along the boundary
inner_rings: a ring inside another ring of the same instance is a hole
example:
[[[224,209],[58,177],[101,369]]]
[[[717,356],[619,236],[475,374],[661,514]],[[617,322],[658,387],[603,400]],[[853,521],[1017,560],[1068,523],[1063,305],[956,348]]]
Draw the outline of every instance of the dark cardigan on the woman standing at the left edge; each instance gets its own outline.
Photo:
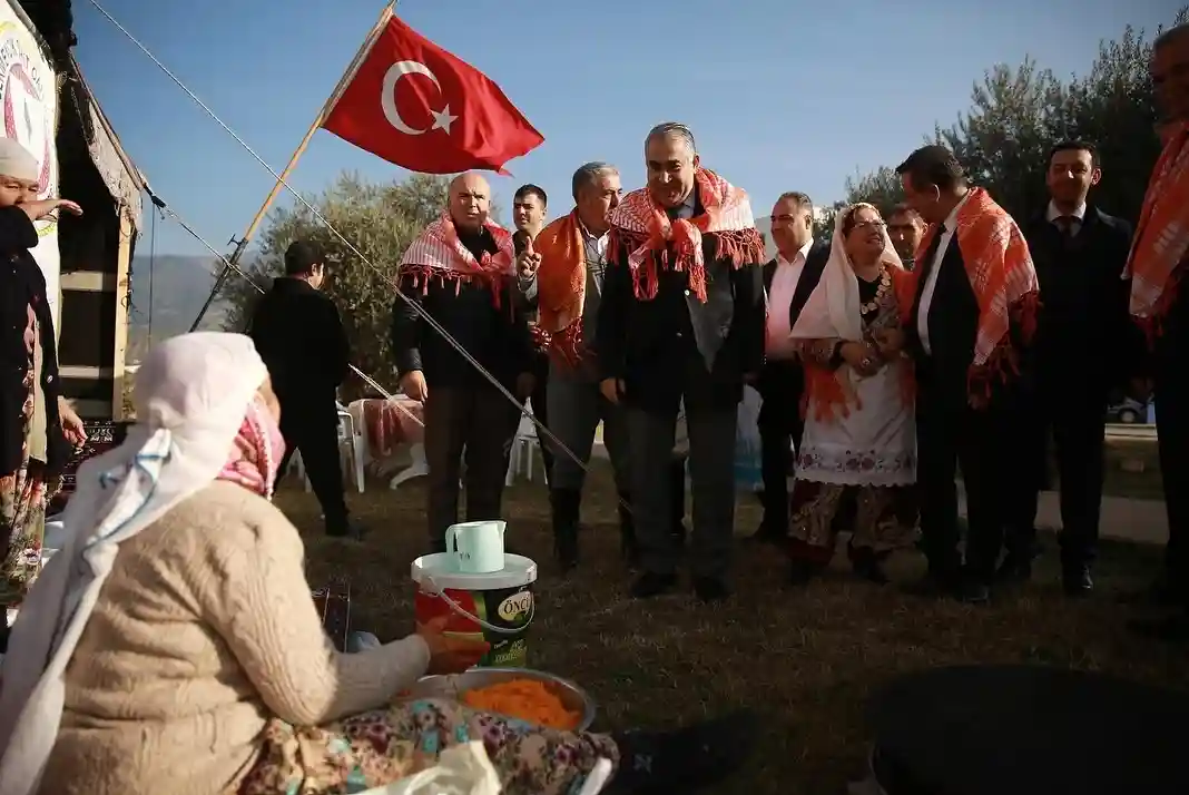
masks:
[[[15,472],[24,459],[25,376],[30,357],[25,347],[29,308],[33,308],[42,343],[42,392],[45,396],[46,465],[58,472],[69,461],[70,444],[58,417],[58,351],[45,275],[30,250],[37,246],[37,227],[18,207],[0,209],[0,475]]]

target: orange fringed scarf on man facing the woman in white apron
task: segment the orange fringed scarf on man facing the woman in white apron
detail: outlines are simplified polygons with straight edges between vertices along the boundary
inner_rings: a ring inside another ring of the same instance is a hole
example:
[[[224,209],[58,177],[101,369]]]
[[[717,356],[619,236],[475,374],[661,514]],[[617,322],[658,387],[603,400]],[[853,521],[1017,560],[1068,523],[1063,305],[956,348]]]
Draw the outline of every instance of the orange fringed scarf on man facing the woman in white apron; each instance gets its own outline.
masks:
[[[969,198],[958,210],[957,226],[958,250],[979,302],[969,392],[973,398],[986,399],[994,380],[1006,381],[1019,372],[1019,352],[1008,332],[1014,322],[1021,341],[1031,341],[1040,285],[1020,227],[986,190],[970,189]],[[917,248],[918,263],[936,234],[937,225],[931,225]],[[913,296],[919,275],[920,267],[908,275]]]

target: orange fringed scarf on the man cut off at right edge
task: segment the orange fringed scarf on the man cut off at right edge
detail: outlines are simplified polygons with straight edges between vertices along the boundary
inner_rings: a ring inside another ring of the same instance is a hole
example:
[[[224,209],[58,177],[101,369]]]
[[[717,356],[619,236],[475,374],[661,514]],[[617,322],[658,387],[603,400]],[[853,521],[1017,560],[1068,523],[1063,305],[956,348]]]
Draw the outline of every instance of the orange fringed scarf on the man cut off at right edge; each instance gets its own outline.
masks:
[[[1127,258],[1131,315],[1149,345],[1177,297],[1189,253],[1189,122],[1181,122],[1160,152],[1144,194],[1139,226]]]

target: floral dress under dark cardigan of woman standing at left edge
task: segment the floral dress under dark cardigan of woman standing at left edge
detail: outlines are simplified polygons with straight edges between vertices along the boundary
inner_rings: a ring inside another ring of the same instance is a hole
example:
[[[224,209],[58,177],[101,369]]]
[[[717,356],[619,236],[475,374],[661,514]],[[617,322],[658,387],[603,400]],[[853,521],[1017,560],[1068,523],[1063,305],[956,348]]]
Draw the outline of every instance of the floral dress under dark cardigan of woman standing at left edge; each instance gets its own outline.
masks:
[[[29,347],[36,348],[27,333],[25,340]],[[45,465],[29,455],[37,393],[40,391],[33,351],[29,355],[23,381],[26,397],[21,465],[15,472],[0,475],[0,607],[19,606],[37,579],[45,538],[45,506],[62,485],[61,477],[48,477]]]

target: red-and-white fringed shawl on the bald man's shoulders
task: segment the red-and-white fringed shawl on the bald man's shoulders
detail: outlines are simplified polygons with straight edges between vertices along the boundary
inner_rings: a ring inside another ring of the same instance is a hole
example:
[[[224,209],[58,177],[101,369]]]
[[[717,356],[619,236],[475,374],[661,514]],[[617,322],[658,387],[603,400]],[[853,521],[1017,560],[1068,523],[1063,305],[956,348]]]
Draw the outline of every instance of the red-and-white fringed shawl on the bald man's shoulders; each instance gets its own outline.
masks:
[[[495,221],[487,219],[484,227],[496,240],[498,253],[484,253],[476,259],[463,241],[449,213],[430,223],[413,241],[401,259],[400,275],[411,276],[414,284],[428,289],[429,280],[454,279],[459,283],[482,280],[497,285],[503,277],[512,276],[515,255],[512,253],[512,235]],[[496,292],[498,296],[498,291]]]

